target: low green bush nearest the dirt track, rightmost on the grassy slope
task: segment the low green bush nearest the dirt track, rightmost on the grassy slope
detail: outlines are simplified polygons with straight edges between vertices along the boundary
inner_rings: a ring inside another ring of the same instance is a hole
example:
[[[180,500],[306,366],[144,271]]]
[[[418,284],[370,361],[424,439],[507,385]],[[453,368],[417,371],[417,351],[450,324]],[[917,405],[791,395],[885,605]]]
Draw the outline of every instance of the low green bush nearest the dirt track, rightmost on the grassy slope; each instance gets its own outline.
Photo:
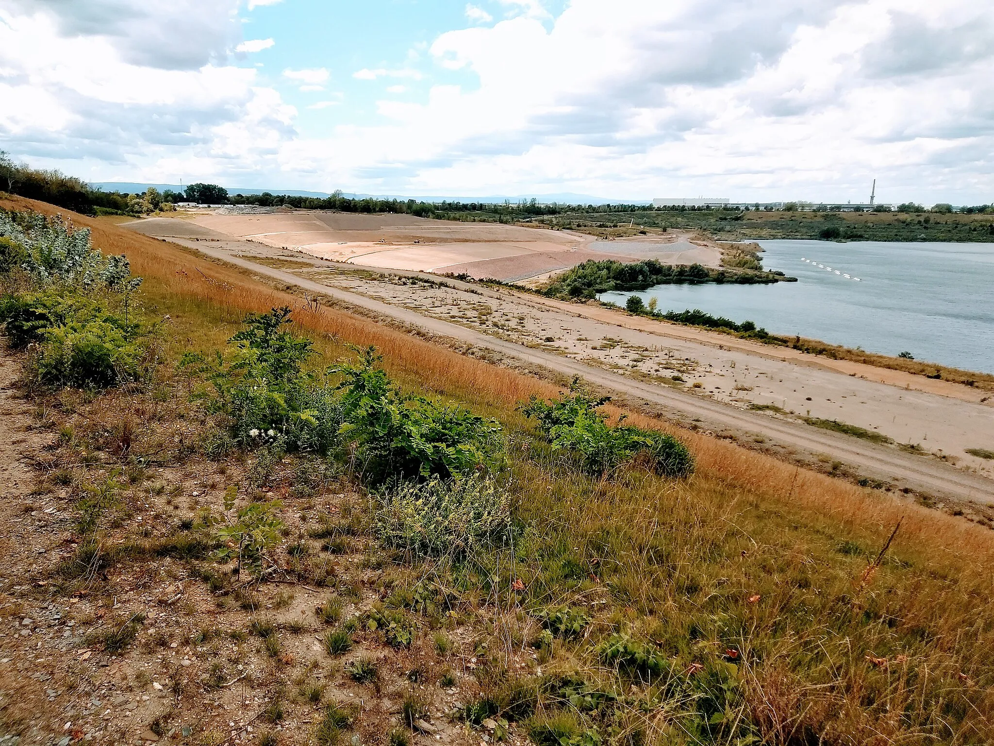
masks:
[[[664,476],[686,476],[694,471],[687,447],[665,433],[622,426],[609,427],[599,411],[609,397],[593,398],[578,380],[558,401],[532,396],[523,412],[538,422],[539,431],[552,445],[587,473],[606,474],[618,466],[638,462]]]

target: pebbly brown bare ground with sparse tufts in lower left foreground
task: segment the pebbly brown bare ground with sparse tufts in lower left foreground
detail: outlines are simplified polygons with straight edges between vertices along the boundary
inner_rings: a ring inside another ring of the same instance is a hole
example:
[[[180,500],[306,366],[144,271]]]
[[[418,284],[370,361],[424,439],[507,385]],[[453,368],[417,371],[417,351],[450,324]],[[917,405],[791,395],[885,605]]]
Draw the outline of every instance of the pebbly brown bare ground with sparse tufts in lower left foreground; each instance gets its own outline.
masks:
[[[16,367],[3,352],[0,743],[220,746],[257,743],[263,733],[274,734],[274,743],[314,743],[331,703],[354,717],[350,734],[383,743],[412,694],[427,706],[415,744],[475,743],[486,733],[447,716],[476,685],[475,636],[459,614],[432,623],[451,645],[447,651],[436,648],[430,631],[410,649],[395,649],[364,626],[347,653],[325,650],[321,641],[332,627],[317,607],[337,599],[344,624],[375,602],[389,603],[393,589],[413,587],[410,571],[372,551],[362,531],[312,538],[361,515],[354,494],[334,480],[302,492],[299,474],[281,475],[290,466],[276,466],[258,495],[282,500],[283,535],[296,537],[297,548],[272,557],[275,572],[261,586],[240,584],[237,576],[222,584],[218,578],[230,567],[194,561],[182,547],[195,538],[201,510],[221,509],[227,485],[246,486],[249,465],[195,459],[119,471],[113,465],[127,460],[115,457],[116,435],[81,464],[74,431],[110,436],[126,407],[74,400],[75,411],[67,402],[36,409],[12,387]],[[151,399],[140,406],[148,408],[143,438],[182,438],[187,426],[173,419],[175,408],[156,410]],[[120,485],[119,503],[103,526],[102,552],[127,547],[123,556],[134,561],[77,568],[78,501],[108,477]],[[271,650],[252,633],[253,621],[271,623]],[[126,633],[120,650],[106,642],[116,633]],[[535,665],[530,649],[515,654],[510,665]],[[360,658],[376,661],[374,682],[357,683],[347,672]],[[444,672],[452,679],[443,686]],[[511,741],[522,738],[512,732]]]

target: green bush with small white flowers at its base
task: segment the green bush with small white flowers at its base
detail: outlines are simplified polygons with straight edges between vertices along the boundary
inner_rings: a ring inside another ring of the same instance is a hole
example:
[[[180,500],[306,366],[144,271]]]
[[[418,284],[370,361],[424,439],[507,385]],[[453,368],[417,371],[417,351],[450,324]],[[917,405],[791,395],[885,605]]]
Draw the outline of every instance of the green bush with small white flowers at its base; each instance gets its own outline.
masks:
[[[232,351],[187,353],[182,365],[204,375],[208,409],[222,416],[236,444],[253,448],[279,441],[291,451],[328,454],[339,443],[342,409],[335,388],[304,370],[314,355],[309,339],[284,327],[290,309],[249,314],[231,338]]]

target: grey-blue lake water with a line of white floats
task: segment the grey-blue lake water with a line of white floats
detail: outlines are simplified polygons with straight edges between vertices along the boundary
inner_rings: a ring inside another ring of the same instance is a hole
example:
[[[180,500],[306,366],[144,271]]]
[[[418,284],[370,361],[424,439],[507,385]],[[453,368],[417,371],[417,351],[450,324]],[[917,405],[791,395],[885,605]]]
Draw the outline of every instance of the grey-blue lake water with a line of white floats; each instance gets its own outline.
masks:
[[[774,334],[994,373],[994,244],[757,243],[763,267],[798,281],[657,285],[601,298],[656,297],[661,311],[700,308]]]

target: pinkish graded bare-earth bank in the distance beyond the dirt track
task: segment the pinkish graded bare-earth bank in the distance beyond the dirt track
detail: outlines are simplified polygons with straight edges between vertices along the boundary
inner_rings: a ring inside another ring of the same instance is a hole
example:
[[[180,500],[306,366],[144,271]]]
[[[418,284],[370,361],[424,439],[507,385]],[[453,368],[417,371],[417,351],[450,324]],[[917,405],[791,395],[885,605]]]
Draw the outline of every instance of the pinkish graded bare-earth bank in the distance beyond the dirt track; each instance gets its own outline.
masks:
[[[588,260],[659,259],[669,264],[711,267],[721,263],[717,244],[690,233],[603,241],[571,231],[425,220],[411,215],[311,211],[197,214],[151,218],[131,227],[163,237],[245,239],[369,267],[507,281],[547,277]]]

